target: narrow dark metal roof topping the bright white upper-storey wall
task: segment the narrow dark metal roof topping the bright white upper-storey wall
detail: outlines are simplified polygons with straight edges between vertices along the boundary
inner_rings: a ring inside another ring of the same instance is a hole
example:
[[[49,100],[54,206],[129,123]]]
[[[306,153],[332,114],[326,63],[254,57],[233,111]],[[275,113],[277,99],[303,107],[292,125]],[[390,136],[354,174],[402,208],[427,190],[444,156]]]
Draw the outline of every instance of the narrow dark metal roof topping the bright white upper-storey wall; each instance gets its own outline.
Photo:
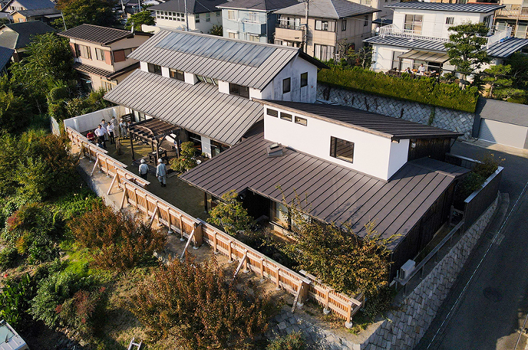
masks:
[[[402,140],[410,138],[457,138],[455,131],[436,128],[378,113],[367,112],[347,105],[327,105],[290,101],[262,101],[265,105],[290,110],[292,113],[324,119],[377,135]]]

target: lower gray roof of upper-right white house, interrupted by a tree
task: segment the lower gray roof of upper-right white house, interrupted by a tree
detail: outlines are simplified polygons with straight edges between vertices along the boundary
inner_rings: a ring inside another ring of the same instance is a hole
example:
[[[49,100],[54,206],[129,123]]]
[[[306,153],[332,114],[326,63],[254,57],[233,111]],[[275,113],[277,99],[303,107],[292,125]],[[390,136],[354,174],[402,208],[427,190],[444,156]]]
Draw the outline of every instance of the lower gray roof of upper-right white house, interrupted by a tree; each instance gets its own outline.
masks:
[[[398,46],[402,48],[412,49],[417,48],[426,51],[447,52],[445,49],[445,41],[425,40],[417,38],[403,38],[401,36],[372,36],[363,40],[364,43],[371,43],[375,45]],[[522,50],[528,46],[528,39],[522,38],[507,38],[503,41],[493,43],[487,49],[489,56],[497,58],[508,58],[515,52]]]

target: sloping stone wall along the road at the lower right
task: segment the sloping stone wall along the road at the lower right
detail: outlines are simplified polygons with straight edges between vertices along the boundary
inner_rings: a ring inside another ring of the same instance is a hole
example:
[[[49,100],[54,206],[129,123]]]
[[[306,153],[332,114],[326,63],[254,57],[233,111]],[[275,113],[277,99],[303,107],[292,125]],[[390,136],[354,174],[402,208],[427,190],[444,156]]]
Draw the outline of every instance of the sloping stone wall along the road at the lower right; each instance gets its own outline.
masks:
[[[469,253],[492,219],[497,201],[498,197],[404,299],[399,310],[387,315],[387,320],[361,345],[362,350],[411,350],[418,344],[464,267]]]

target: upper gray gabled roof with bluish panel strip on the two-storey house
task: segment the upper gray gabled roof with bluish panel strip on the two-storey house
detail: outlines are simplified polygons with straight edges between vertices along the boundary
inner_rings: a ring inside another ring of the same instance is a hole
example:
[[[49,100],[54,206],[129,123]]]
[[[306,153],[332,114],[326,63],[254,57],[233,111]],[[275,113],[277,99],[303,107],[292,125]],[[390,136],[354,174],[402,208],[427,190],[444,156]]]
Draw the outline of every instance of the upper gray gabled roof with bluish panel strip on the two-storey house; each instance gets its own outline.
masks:
[[[159,31],[128,57],[261,90],[297,55],[326,67],[299,48],[188,31]]]

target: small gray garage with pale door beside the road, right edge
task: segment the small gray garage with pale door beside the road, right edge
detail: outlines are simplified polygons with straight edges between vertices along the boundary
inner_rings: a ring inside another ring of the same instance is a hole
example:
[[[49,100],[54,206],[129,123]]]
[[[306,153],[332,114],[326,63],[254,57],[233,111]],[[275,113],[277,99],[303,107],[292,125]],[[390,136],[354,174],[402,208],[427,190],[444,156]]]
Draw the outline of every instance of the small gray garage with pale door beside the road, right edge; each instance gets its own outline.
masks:
[[[528,105],[479,98],[474,137],[480,140],[528,149]]]

